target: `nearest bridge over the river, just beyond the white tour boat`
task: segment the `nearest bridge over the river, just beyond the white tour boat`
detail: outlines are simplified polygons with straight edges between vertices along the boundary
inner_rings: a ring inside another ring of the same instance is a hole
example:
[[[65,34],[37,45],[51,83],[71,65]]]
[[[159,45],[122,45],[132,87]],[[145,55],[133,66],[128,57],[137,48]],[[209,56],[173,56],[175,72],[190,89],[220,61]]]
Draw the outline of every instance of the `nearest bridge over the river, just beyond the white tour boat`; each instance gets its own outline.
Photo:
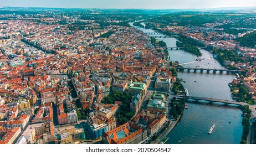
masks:
[[[239,106],[244,106],[247,105],[249,106],[249,104],[244,103],[244,102],[237,102],[237,101],[229,101],[229,100],[221,100],[221,99],[212,99],[212,98],[208,98],[208,97],[198,97],[198,96],[184,96],[186,97],[187,101],[190,102],[199,102],[199,101],[208,101],[210,102],[210,104],[212,104],[213,102],[221,102],[225,105],[239,105]],[[191,100],[188,100],[191,99]]]

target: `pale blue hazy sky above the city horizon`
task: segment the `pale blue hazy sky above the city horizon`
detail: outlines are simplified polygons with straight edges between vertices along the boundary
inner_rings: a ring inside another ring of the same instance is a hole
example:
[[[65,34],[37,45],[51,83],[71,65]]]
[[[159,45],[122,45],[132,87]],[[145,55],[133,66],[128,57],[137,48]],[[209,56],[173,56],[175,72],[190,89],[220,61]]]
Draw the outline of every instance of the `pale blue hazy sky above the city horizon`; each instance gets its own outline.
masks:
[[[256,7],[256,0],[0,0],[0,7],[198,9]]]

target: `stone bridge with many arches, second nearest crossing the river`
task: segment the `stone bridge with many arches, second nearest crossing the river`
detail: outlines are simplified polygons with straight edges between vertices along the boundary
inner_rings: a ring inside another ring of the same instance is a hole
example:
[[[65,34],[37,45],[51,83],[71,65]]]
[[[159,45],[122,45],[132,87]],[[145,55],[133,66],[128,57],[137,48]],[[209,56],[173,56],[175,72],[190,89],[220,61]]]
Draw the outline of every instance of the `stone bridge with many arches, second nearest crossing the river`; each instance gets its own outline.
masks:
[[[228,70],[228,69],[204,69],[204,68],[176,68],[177,71],[185,71],[191,72],[193,70],[194,73],[197,73],[197,70],[200,70],[200,73],[203,73],[204,70],[206,70],[206,73],[210,73],[210,71],[213,71],[214,74],[219,71],[219,74],[223,74],[226,72],[226,74],[235,74],[238,73],[238,70]]]

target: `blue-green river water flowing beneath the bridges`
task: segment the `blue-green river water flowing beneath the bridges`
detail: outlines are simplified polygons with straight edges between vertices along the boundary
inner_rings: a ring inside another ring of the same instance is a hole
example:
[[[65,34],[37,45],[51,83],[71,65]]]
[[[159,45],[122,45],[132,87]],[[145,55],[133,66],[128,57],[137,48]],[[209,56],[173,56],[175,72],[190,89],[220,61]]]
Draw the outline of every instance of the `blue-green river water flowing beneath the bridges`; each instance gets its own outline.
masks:
[[[155,32],[152,29],[141,30],[145,33]],[[167,47],[176,47],[176,38],[157,39],[163,40]],[[201,52],[202,56],[196,56],[184,50],[169,50],[169,55],[172,61],[178,61],[184,67],[224,69],[217,60],[213,59],[212,53],[202,49]],[[196,61],[198,58],[203,60]],[[190,96],[233,100],[228,87],[228,83],[235,79],[233,74],[221,75],[185,71],[179,72],[178,77],[185,80],[182,84],[188,89]],[[239,143],[243,131],[241,114],[242,111],[238,107],[223,106],[221,103],[214,105],[188,103],[188,110],[183,112],[181,120],[169,133],[169,139],[166,143]],[[208,130],[213,123],[216,124],[216,127],[212,134],[208,135]]]

